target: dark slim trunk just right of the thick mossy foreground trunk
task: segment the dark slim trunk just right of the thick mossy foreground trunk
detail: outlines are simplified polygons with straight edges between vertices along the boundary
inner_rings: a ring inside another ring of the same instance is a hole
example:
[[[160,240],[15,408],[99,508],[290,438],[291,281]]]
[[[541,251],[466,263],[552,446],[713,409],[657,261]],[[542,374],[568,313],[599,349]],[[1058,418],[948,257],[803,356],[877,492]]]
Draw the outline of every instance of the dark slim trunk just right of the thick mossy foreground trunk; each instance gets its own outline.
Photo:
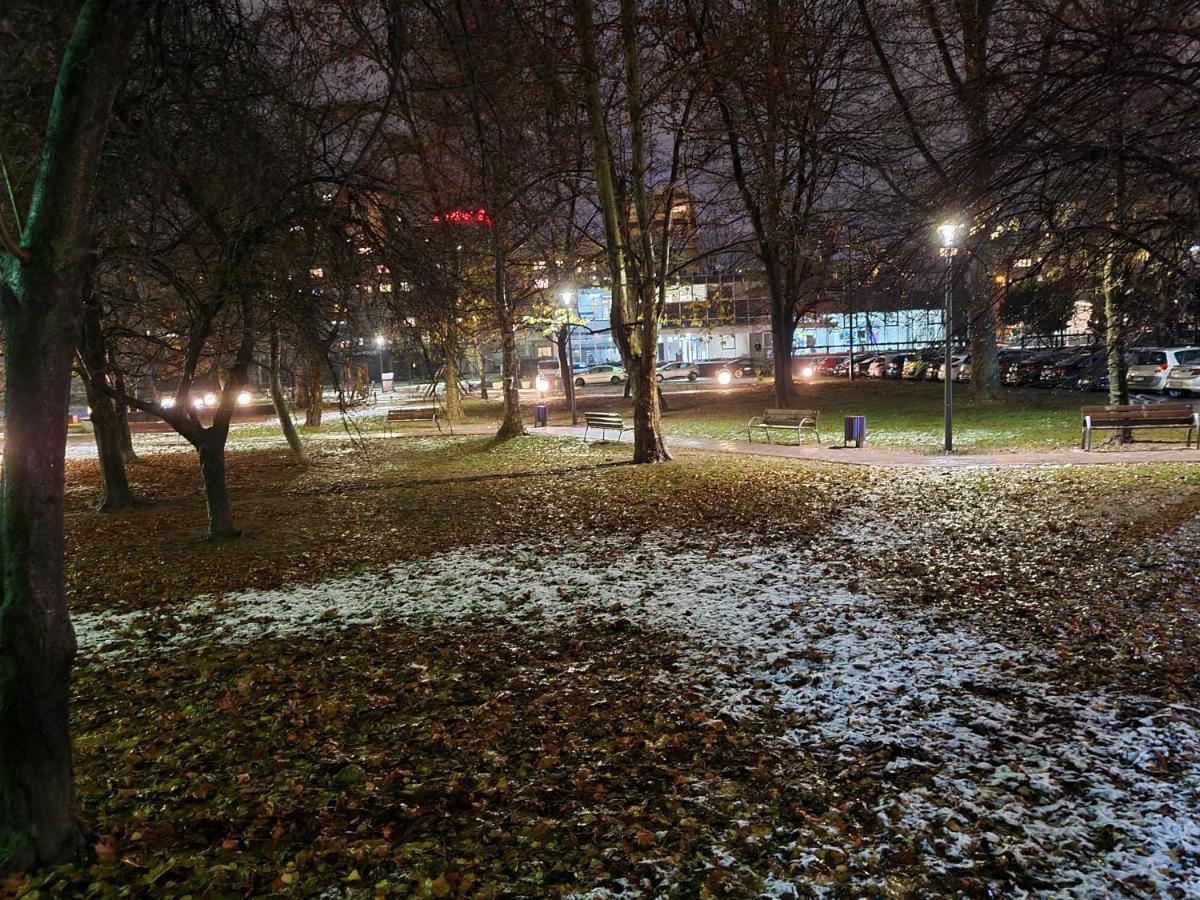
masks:
[[[90,271],[85,276],[90,280]],[[91,407],[92,437],[96,440],[96,455],[100,460],[100,482],[103,498],[100,509],[110,512],[128,509],[134,504],[133,491],[125,472],[125,434],[121,418],[113,398],[100,390],[97,380],[108,378],[108,348],[104,346],[104,330],[100,322],[100,308],[91,299],[91,289],[84,284],[84,317],[79,336],[79,359],[83,362],[83,383],[88,391],[88,406]]]

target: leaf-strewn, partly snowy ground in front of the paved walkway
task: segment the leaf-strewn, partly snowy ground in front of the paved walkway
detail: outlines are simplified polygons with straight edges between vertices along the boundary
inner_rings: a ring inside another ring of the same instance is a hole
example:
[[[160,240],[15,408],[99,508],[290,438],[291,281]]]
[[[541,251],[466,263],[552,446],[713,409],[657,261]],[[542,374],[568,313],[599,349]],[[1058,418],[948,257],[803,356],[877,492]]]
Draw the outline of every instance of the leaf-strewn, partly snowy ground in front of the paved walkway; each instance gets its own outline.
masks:
[[[13,887],[1195,888],[1192,470],[367,446],[233,454],[220,546],[190,456],[70,464],[95,852]]]

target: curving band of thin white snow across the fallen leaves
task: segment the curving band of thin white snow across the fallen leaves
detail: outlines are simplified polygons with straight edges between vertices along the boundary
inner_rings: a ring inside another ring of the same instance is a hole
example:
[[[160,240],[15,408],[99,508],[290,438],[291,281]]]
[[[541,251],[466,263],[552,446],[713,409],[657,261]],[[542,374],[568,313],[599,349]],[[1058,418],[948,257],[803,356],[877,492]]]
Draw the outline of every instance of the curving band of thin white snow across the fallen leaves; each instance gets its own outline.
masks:
[[[1032,872],[1046,896],[1200,896],[1200,712],[1068,692],[1037,654],[834,582],[776,550],[463,548],[76,628],[82,649],[119,659],[389,620],[626,618],[678,635],[719,710],[794,710],[797,745],[886,767],[882,839],[847,851],[864,890],[911,848],[932,871]]]

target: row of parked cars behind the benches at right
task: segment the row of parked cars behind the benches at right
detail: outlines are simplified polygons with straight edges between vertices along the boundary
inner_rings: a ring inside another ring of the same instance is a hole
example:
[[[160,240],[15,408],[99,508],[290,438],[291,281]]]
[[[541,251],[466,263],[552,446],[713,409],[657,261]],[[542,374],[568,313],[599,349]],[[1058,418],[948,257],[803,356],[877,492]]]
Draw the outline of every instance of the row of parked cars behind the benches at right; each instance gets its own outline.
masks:
[[[1052,349],[1002,349],[1000,377],[1004,384],[1026,388],[1109,389],[1108,356],[1103,347],[1079,346]],[[847,377],[848,354],[820,356],[802,362],[802,372]],[[856,355],[856,378],[905,378],[940,382],[947,378],[943,350],[906,350]],[[1126,378],[1133,392],[1165,392],[1169,396],[1200,394],[1200,347],[1139,347],[1126,354]],[[949,378],[971,380],[971,354],[950,355]]]

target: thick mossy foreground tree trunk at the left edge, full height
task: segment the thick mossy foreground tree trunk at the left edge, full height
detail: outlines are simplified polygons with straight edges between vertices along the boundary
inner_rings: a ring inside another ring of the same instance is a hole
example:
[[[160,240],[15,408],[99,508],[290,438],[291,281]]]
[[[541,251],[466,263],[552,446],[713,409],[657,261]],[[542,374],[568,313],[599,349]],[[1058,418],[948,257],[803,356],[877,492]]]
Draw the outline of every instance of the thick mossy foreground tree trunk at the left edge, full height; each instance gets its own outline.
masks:
[[[12,210],[0,210],[7,412],[0,875],[65,862],[82,845],[67,712],[76,642],[64,583],[64,456],[91,185],[144,5],[83,4],[62,54],[24,233],[13,235]]]

